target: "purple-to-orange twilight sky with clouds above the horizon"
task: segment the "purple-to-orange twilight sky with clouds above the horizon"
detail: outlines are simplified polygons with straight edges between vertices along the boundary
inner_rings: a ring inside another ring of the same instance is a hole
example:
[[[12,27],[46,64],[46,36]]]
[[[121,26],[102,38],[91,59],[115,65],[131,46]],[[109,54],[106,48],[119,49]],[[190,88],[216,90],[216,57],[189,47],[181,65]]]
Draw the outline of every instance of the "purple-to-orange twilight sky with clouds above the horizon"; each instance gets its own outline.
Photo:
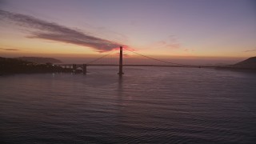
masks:
[[[256,55],[254,0],[0,0],[0,56]]]

